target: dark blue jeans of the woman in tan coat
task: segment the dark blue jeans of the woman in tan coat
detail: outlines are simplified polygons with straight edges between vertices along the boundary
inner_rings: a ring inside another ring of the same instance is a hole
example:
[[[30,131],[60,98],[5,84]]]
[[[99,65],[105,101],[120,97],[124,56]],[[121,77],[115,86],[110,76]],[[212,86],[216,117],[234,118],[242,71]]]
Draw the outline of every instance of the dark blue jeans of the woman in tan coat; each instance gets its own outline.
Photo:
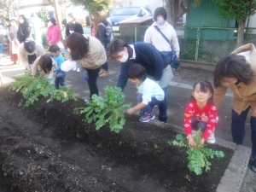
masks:
[[[231,123],[231,131],[232,131],[232,137],[233,142],[237,145],[242,145],[243,138],[245,136],[245,121],[247,119],[247,113],[250,110],[250,107],[247,108],[245,111],[241,112],[239,115],[232,109],[232,123]],[[251,123],[251,139],[253,143],[252,148],[252,156],[253,158],[256,158],[256,118],[251,117],[250,119]]]

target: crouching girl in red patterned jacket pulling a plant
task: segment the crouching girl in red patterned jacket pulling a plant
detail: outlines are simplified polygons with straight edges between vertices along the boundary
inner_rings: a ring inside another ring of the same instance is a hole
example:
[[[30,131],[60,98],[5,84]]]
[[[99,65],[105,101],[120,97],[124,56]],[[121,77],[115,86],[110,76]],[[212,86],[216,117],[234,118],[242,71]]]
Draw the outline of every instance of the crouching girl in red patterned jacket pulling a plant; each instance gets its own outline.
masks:
[[[213,102],[212,84],[200,81],[194,84],[190,103],[186,108],[184,129],[189,139],[189,146],[195,147],[193,135],[201,129],[201,143],[215,143],[214,128],[218,124],[217,108]]]

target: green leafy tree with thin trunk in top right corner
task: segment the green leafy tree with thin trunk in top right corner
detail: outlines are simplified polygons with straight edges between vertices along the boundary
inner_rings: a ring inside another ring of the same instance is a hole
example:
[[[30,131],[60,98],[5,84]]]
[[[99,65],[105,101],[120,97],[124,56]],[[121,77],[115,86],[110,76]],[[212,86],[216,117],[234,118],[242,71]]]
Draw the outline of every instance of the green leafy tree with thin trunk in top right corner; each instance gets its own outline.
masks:
[[[245,24],[248,16],[256,12],[255,0],[213,0],[216,3],[220,14],[227,19],[234,19],[238,22],[237,46],[243,44]]]

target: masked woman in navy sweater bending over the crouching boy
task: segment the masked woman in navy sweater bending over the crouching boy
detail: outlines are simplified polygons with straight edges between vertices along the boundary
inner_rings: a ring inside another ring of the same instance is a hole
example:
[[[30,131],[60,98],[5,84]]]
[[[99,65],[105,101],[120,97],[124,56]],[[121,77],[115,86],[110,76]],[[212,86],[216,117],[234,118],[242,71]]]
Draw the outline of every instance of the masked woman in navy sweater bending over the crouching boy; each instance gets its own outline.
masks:
[[[126,44],[121,39],[115,39],[109,46],[110,55],[112,58],[121,62],[119,79],[116,86],[122,90],[128,81],[128,69],[133,63],[142,65],[148,75],[149,79],[155,80],[159,83],[162,90],[165,92],[165,99],[163,104],[159,106],[159,120],[166,123],[167,120],[167,88],[169,81],[172,79],[172,67],[169,65],[171,58],[160,53],[152,44],[138,42],[136,44]]]

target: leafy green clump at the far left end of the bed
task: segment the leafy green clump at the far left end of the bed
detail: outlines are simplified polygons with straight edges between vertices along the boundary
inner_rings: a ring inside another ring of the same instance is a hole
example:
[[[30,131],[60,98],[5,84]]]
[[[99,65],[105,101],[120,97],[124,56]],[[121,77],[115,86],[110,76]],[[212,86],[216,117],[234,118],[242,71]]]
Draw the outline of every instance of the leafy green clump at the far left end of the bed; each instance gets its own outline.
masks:
[[[77,101],[71,88],[61,87],[60,90],[56,90],[55,86],[49,83],[49,79],[39,79],[37,77],[33,79],[31,71],[26,71],[24,74],[15,77],[15,82],[10,84],[10,90],[20,92],[26,99],[24,107],[28,107],[38,101],[40,96],[50,96],[47,102],[53,100],[61,102],[67,102],[67,100]]]

